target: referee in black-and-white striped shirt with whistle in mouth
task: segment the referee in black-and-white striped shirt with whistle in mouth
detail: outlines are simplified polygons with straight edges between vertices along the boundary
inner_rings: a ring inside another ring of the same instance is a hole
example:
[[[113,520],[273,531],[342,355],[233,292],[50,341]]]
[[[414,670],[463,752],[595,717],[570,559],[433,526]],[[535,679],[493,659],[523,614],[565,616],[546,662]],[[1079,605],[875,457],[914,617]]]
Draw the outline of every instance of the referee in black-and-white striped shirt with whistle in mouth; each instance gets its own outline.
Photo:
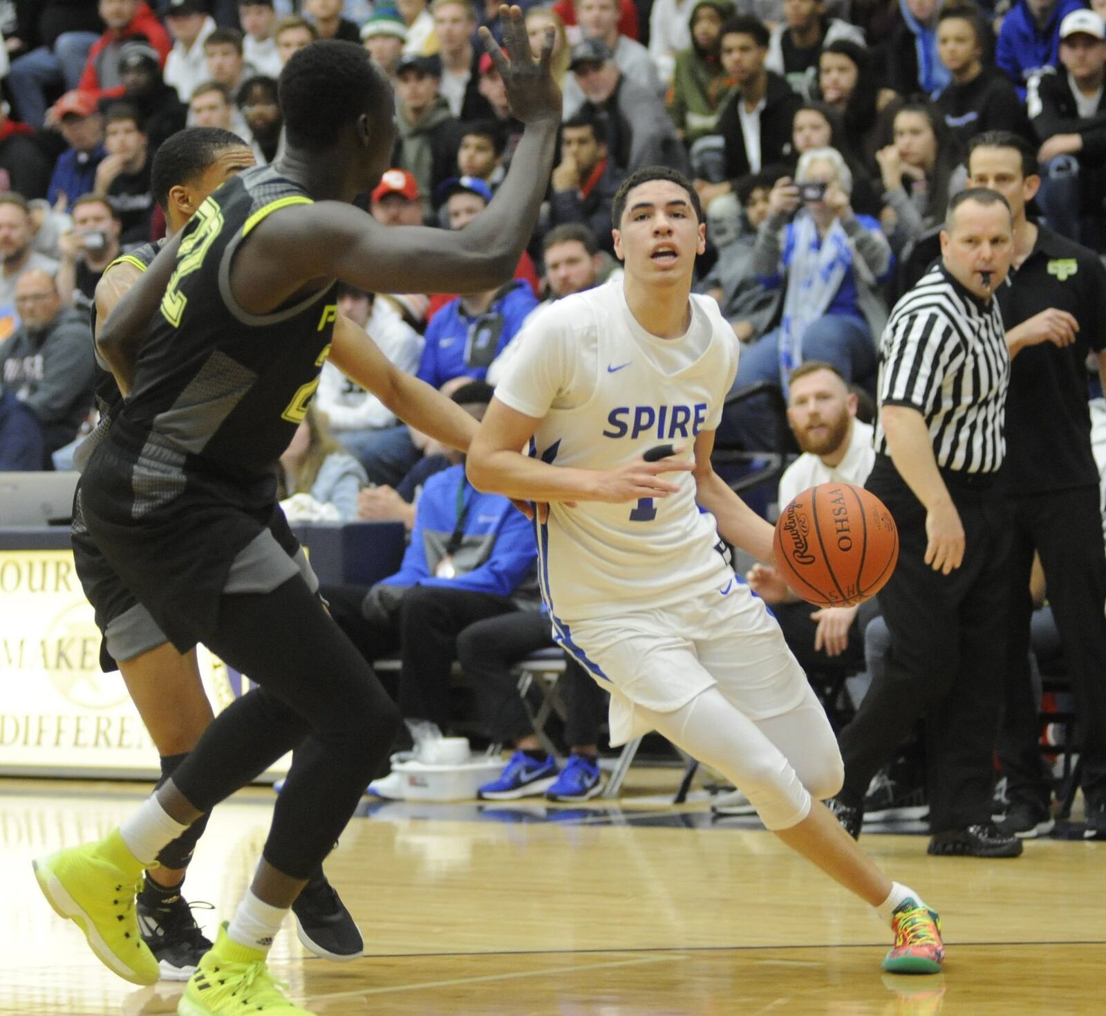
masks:
[[[1010,375],[991,294],[1012,253],[1006,200],[982,188],[958,194],[941,261],[899,300],[880,341],[867,488],[899,530],[898,567],[879,593],[891,645],[885,674],[841,733],[845,782],[831,807],[859,834],[868,782],[925,715],[935,854],[1022,852],[991,821],[1009,547],[997,473]]]

